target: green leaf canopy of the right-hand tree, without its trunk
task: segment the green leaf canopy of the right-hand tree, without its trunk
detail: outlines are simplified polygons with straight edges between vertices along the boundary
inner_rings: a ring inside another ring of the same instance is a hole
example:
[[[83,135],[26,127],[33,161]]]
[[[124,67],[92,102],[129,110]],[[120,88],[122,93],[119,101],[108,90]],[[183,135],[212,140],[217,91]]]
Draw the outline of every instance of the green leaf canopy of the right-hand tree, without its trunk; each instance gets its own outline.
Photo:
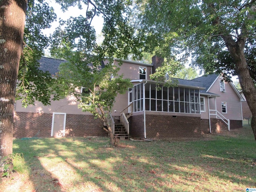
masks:
[[[243,35],[255,39],[256,12],[249,0],[144,0],[136,6],[136,26],[145,38],[145,50],[162,57],[183,55],[182,61],[192,56],[206,71],[219,71],[221,67],[234,74],[234,65],[226,66],[220,58],[227,51],[223,35],[232,36],[234,44]]]

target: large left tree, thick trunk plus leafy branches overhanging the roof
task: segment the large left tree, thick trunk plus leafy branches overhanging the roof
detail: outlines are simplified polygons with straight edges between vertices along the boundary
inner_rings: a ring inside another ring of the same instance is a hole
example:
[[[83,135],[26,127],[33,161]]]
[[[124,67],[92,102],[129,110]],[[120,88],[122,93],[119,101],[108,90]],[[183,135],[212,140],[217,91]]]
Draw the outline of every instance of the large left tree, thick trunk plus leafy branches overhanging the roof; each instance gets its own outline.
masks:
[[[60,27],[47,38],[42,34],[42,29],[49,28],[51,22],[56,20],[54,10],[47,2],[0,1],[0,158],[12,153],[15,93],[16,98],[23,100],[24,106],[33,104],[35,100],[48,105],[51,95],[54,99],[59,99],[66,94],[62,94],[62,90],[54,86],[56,80],[51,78],[49,73],[38,69],[37,61],[43,55],[44,48],[50,46],[52,56],[69,61],[72,59],[72,63],[80,63],[92,54],[102,60],[104,57],[113,56],[127,58],[131,52],[135,53],[134,56],[141,52],[140,41],[134,36],[134,30],[129,25],[128,15],[132,2],[56,2],[62,6],[63,11],[68,10],[70,6],[78,6],[85,11],[83,16],[71,16],[67,21],[60,20]],[[104,17],[104,41],[100,45],[96,44],[95,30],[91,26],[95,16]],[[16,90],[17,80],[19,81]]]

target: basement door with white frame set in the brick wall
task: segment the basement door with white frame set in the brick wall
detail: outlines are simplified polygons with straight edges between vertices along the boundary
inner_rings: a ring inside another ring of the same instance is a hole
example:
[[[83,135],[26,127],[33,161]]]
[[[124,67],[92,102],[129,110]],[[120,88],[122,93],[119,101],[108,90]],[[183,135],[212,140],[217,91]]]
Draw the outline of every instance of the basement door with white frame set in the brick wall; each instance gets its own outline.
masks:
[[[66,113],[52,114],[52,133],[53,137],[64,137],[66,126]]]

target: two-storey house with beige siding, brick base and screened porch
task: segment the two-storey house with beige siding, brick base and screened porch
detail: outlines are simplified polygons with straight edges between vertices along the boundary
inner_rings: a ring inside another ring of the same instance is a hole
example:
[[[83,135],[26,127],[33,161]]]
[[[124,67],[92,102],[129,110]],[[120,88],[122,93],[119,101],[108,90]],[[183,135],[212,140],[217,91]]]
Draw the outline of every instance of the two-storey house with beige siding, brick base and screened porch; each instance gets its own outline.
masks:
[[[42,57],[39,62],[42,70],[55,74],[65,61]],[[193,80],[177,79],[177,87],[156,90],[156,82],[149,75],[161,63],[156,56],[152,64],[122,60],[120,74],[130,78],[134,86],[116,97],[112,116],[121,122],[113,122],[113,126],[126,122],[126,134],[134,138],[200,138],[209,132],[242,127],[244,99],[232,83],[212,74]],[[108,136],[98,119],[77,107],[78,102],[68,96],[52,101],[50,106],[36,102],[22,108],[21,101],[17,101],[14,138]],[[122,114],[126,120],[122,120]]]

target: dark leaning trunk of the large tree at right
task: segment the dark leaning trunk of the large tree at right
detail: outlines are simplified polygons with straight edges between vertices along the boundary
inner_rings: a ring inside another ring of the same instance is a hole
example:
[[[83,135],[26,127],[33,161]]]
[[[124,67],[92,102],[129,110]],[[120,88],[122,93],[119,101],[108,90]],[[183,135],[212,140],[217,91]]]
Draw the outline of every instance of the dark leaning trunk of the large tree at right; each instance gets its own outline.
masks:
[[[232,36],[223,35],[222,38],[234,60],[236,73],[238,74],[239,82],[252,112],[252,131],[256,140],[256,88],[249,73],[244,55],[244,46],[247,39],[246,34],[241,33],[241,36],[235,41]]]

